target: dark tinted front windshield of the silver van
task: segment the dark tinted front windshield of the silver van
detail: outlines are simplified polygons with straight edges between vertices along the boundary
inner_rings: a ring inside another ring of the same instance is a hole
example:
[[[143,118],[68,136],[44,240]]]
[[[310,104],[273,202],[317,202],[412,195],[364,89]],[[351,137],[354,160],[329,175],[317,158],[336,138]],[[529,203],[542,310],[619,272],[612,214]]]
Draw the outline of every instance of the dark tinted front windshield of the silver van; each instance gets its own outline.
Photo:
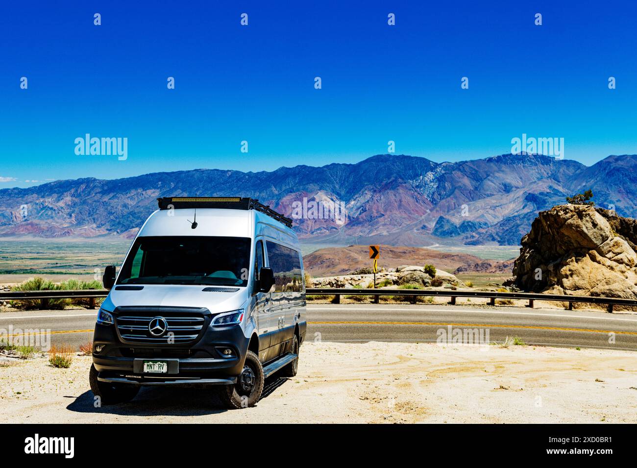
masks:
[[[247,286],[250,239],[139,237],[117,284]]]

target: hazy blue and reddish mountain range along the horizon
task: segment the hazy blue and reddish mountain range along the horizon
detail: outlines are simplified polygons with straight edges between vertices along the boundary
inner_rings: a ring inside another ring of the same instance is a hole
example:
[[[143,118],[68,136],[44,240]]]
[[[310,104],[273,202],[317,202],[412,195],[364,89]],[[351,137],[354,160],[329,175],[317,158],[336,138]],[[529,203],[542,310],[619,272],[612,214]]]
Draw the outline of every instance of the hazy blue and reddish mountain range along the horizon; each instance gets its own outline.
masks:
[[[131,238],[157,208],[157,197],[240,195],[294,218],[306,243],[519,245],[538,211],[586,189],[598,206],[634,217],[637,155],[612,155],[590,167],[526,153],[441,163],[376,155],[355,164],[275,171],[194,169],[57,180],[0,190],[0,236]],[[295,216],[295,207],[311,202],[334,202],[347,216],[315,218],[311,209]]]

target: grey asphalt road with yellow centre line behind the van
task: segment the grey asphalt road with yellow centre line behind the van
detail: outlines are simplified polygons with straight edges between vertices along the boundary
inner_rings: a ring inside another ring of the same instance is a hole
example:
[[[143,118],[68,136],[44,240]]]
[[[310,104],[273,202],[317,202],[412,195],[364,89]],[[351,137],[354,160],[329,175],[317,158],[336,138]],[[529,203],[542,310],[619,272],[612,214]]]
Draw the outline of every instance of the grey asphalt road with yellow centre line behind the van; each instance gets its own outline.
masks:
[[[50,329],[52,343],[74,346],[92,339],[96,311],[29,311],[0,314],[0,335]],[[311,304],[313,341],[435,342],[442,332],[482,330],[484,339],[519,337],[527,344],[637,350],[637,315],[596,311],[407,304]],[[448,338],[449,341],[452,339]],[[614,342],[613,342],[614,341]]]

